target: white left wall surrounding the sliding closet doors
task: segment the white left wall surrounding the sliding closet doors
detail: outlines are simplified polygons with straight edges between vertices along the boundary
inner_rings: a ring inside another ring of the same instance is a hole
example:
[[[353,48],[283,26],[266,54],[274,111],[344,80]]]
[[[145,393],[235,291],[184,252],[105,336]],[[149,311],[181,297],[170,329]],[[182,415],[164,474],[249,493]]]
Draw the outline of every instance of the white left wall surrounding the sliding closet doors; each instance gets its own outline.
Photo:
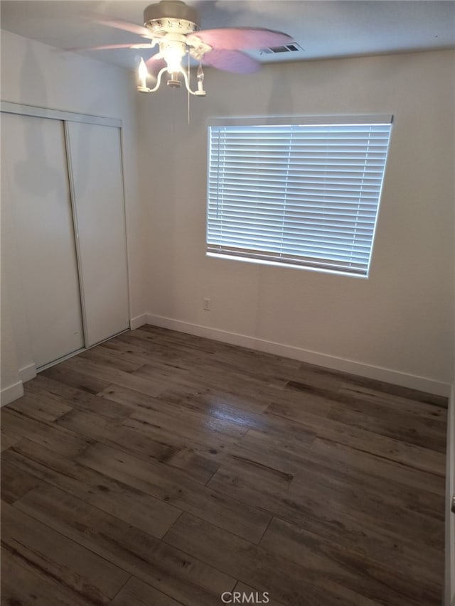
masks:
[[[144,216],[137,188],[137,121],[134,76],[119,67],[65,53],[8,31],[1,32],[1,99],[67,112],[122,119],[124,187],[131,313],[144,313]],[[2,193],[4,187],[2,183]],[[33,367],[26,320],[21,310],[21,276],[8,195],[1,196],[2,357],[1,389],[18,380],[21,369]],[[21,242],[21,246],[26,243]],[[109,271],[109,268],[106,268]],[[9,284],[7,288],[6,284]],[[9,318],[8,310],[11,310]],[[11,335],[11,339],[6,335]],[[25,374],[23,379],[30,378]],[[6,391],[6,394],[9,392]],[[4,394],[2,403],[8,401]]]

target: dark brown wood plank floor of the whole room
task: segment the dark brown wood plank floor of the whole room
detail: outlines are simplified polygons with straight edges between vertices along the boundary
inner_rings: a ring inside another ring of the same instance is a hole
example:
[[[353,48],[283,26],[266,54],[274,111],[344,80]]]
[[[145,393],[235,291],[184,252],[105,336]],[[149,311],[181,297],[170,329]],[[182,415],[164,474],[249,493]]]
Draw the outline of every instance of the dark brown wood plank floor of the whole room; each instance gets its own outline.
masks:
[[[1,604],[441,604],[444,398],[144,326],[1,417]]]

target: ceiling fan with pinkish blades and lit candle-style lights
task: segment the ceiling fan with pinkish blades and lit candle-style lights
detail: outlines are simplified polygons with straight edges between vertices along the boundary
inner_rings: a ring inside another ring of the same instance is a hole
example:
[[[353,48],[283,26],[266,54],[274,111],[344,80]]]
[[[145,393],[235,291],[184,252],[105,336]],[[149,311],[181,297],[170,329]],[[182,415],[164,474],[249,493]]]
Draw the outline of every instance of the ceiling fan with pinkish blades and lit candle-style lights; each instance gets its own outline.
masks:
[[[261,64],[243,53],[243,50],[262,50],[274,46],[289,44],[292,38],[286,33],[263,28],[218,28],[201,30],[198,11],[181,0],[161,0],[150,4],[144,10],[144,26],[128,21],[119,21],[97,15],[96,21],[106,26],[119,28],[146,38],[146,43],[114,44],[95,46],[84,50],[107,48],[152,49],[159,46],[159,52],[148,60],[141,59],[139,65],[140,92],[154,92],[159,89],[161,78],[168,72],[168,85],[180,87],[180,75],[183,77],[188,93],[198,97],[205,96],[203,89],[202,65],[218,70],[235,73],[252,73],[259,70]],[[80,49],[82,50],[82,49]],[[188,68],[182,66],[183,58],[188,54]],[[191,90],[189,82],[189,58],[199,62],[198,87]],[[147,85],[149,77],[156,77],[154,87]]]

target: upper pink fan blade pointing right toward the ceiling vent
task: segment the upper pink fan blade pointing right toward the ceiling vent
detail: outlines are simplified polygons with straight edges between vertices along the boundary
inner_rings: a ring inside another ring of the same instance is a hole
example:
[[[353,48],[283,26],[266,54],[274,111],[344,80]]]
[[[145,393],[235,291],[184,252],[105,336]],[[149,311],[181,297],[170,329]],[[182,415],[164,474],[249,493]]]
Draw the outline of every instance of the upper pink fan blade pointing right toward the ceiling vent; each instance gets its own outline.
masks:
[[[186,38],[188,43],[196,45],[196,38],[199,38],[212,48],[223,50],[261,50],[292,41],[287,33],[257,28],[206,29],[191,33]]]

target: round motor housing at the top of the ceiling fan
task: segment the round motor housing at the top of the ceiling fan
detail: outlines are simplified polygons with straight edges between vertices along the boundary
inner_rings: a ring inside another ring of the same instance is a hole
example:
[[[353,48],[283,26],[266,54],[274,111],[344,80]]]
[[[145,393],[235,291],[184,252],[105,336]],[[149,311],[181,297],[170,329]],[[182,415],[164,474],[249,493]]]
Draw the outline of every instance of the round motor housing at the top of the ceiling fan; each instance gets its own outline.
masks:
[[[198,11],[180,0],[161,0],[144,10],[144,26],[154,33],[186,35],[199,31],[198,21]]]

